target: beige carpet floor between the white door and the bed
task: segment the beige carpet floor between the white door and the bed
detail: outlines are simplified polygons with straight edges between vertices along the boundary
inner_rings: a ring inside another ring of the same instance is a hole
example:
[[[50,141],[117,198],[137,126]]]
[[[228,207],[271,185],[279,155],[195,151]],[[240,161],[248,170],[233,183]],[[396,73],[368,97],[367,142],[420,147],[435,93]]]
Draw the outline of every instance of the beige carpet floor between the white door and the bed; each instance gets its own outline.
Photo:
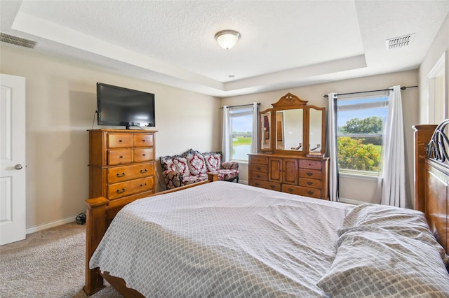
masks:
[[[86,226],[76,222],[0,246],[0,297],[86,297]],[[91,296],[122,297],[108,286]]]

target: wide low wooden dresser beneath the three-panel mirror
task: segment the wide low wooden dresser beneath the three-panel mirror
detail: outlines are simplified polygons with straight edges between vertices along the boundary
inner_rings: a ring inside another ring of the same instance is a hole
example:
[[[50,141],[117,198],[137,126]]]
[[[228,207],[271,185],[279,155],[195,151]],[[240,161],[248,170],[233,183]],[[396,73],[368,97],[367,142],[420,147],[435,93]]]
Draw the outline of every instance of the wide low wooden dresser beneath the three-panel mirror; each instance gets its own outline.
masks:
[[[329,199],[328,166],[328,157],[250,154],[249,185],[305,197]]]

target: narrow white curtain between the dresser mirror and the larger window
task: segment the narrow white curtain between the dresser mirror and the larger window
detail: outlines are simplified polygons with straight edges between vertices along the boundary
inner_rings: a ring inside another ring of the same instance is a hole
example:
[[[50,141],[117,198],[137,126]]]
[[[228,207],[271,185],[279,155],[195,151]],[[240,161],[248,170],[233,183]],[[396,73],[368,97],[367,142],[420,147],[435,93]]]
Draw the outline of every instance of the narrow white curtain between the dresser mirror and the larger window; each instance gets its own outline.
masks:
[[[329,199],[338,201],[338,155],[337,155],[337,95],[328,94],[328,141],[329,160]]]

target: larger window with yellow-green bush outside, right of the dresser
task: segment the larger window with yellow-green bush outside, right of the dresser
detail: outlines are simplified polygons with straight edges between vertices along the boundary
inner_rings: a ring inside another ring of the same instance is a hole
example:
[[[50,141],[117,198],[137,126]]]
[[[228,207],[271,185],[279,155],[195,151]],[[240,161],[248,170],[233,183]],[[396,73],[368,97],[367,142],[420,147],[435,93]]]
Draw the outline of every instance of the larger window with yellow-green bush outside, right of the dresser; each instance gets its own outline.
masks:
[[[387,94],[337,99],[337,154],[340,173],[378,176],[388,115]]]

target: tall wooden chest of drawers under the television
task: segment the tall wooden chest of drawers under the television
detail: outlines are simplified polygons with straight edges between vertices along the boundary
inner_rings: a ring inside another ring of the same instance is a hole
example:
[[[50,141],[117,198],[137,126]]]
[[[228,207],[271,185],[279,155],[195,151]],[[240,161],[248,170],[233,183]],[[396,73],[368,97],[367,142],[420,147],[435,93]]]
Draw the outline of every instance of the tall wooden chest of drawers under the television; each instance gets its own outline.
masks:
[[[156,192],[155,131],[89,130],[89,197],[109,200]]]

